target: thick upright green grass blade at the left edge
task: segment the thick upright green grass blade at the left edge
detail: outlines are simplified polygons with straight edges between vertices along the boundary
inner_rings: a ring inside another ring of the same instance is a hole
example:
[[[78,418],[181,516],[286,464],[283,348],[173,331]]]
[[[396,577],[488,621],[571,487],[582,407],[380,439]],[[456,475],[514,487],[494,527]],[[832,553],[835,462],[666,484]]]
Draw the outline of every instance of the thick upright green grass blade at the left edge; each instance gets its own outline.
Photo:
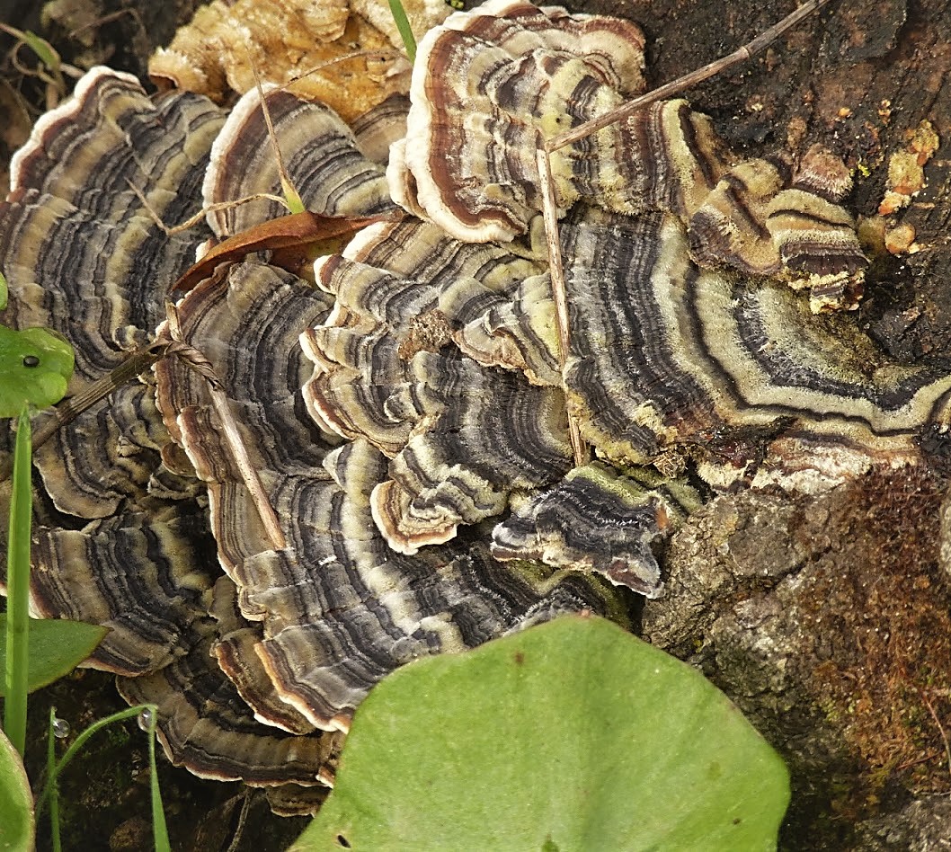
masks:
[[[29,666],[29,528],[32,520],[29,416],[20,414],[13,452],[13,494],[7,546],[7,680],[4,732],[23,756],[27,745]]]

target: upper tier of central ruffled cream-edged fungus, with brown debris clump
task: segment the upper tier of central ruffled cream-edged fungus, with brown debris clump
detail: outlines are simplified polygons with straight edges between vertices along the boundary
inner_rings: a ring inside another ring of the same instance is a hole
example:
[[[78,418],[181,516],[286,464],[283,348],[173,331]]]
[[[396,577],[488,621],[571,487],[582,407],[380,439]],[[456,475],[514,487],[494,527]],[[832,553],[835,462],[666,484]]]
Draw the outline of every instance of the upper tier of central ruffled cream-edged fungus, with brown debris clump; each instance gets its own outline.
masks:
[[[304,385],[312,416],[321,428],[397,455],[447,394],[481,380],[475,364],[441,351],[452,329],[504,303],[541,268],[495,245],[452,240],[432,224],[364,229],[343,257],[315,266],[318,286],[336,304],[301,338],[316,365]]]

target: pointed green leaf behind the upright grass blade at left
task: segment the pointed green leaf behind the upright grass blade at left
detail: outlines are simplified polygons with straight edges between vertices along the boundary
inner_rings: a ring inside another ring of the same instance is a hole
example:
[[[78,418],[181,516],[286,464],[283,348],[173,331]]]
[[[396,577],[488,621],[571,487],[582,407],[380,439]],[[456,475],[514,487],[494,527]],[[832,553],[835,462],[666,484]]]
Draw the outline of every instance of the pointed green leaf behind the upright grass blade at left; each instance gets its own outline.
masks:
[[[29,620],[30,692],[68,675],[91,654],[108,628],[81,621],[31,618]],[[6,678],[7,614],[0,614],[0,697]],[[2,848],[2,847],[0,847]]]

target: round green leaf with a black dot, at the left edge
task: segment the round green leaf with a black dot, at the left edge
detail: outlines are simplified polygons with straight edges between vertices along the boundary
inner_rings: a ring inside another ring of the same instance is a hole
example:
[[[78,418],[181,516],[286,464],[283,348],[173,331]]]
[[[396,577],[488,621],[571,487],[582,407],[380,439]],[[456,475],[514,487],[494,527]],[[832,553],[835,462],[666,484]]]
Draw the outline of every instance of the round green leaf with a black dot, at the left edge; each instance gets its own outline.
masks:
[[[47,328],[14,331],[0,325],[0,417],[25,406],[46,408],[66,395],[72,347]]]

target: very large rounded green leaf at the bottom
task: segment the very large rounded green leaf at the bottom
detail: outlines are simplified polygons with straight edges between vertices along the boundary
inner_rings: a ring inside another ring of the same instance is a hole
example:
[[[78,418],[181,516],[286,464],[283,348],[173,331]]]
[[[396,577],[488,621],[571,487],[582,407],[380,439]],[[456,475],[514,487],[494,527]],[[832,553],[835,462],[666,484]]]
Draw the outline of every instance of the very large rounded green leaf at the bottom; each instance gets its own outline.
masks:
[[[384,679],[293,848],[767,850],[788,798],[698,671],[566,617]]]

